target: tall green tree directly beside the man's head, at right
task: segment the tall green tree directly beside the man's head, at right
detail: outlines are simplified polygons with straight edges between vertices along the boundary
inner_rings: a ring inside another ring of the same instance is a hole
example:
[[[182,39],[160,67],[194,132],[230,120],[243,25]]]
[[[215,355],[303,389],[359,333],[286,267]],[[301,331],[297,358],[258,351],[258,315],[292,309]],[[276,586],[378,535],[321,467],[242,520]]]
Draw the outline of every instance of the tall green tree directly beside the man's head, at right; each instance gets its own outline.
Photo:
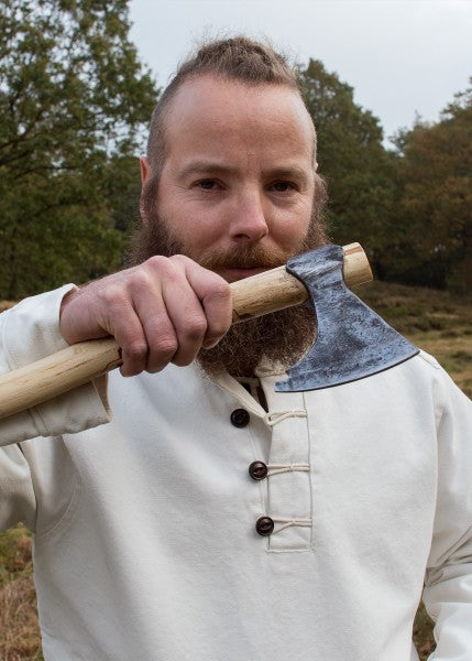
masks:
[[[361,241],[381,268],[396,158],[383,147],[377,118],[354,102],[350,85],[315,59],[300,78],[317,128],[319,172],[328,182],[331,235],[341,243]]]

